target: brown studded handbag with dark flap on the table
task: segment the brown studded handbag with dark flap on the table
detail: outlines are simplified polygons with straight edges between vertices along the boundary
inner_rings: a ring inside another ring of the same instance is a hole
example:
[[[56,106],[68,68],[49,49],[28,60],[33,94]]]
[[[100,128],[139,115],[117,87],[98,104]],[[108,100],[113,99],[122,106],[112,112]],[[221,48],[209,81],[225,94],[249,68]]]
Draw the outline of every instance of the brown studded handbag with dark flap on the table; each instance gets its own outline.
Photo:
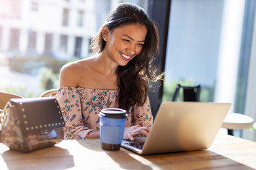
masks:
[[[11,150],[31,152],[63,140],[63,116],[53,98],[12,98],[0,120],[0,140]]]

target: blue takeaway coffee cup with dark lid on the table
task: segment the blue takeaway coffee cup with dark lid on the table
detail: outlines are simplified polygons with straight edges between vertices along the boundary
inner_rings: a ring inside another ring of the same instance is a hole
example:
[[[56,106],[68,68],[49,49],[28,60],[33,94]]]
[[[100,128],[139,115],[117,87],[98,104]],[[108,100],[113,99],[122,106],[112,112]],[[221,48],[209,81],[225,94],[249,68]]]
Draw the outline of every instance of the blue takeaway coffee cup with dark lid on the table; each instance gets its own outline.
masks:
[[[119,150],[124,135],[127,111],[121,108],[105,108],[100,116],[100,141],[102,149]]]

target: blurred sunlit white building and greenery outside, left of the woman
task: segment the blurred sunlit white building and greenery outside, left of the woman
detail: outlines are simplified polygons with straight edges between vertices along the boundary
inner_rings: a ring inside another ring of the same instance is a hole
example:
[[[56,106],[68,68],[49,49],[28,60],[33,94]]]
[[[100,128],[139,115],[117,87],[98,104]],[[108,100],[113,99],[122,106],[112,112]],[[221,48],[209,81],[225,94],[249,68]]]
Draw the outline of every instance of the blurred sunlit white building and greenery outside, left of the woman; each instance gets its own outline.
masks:
[[[92,55],[90,38],[119,2],[0,0],[0,91],[33,97],[58,88],[60,68]]]

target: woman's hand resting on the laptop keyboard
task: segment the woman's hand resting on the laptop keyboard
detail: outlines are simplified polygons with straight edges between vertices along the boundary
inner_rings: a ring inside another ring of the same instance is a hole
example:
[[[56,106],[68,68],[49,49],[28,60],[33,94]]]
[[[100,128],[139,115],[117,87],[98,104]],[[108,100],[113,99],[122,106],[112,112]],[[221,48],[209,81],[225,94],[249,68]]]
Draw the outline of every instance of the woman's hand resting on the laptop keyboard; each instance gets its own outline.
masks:
[[[125,127],[124,129],[124,140],[134,140],[136,135],[149,135],[151,127],[142,127],[140,125],[134,125],[130,127]]]

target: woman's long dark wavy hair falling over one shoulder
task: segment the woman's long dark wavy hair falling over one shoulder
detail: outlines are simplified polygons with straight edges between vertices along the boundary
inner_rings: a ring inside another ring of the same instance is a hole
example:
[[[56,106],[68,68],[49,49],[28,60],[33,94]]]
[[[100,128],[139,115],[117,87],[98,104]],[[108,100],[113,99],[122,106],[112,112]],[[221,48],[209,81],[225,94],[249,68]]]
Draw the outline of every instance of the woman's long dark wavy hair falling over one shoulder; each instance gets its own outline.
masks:
[[[157,75],[153,67],[155,57],[159,53],[159,33],[156,25],[149,19],[143,8],[136,4],[121,3],[115,6],[105,20],[105,26],[112,31],[120,26],[139,23],[146,26],[147,33],[142,52],[130,60],[125,66],[117,67],[117,85],[119,108],[129,110],[137,104],[142,106],[148,95],[149,81],[157,81],[162,75]],[[106,42],[103,40],[102,28],[92,38],[92,52],[102,52]]]

